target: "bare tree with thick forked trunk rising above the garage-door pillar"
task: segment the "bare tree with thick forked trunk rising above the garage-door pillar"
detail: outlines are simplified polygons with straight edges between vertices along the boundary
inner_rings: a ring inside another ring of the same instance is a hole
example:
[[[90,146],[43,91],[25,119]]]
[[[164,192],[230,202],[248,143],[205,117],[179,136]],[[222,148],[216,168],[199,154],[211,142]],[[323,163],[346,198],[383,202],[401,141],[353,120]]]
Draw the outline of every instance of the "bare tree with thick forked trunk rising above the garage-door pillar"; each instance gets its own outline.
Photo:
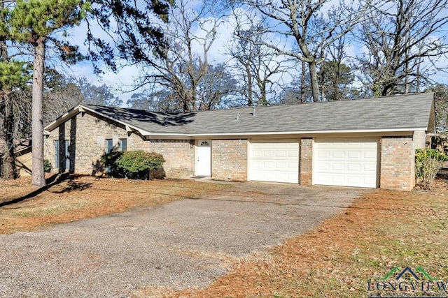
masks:
[[[369,0],[367,0],[369,1]],[[269,33],[293,38],[297,50],[284,50],[268,41],[261,44],[279,54],[305,62],[309,68],[312,98],[319,100],[318,65],[325,61],[325,50],[364,17],[367,5],[343,1],[330,6],[330,0],[243,0],[238,1],[255,8],[269,19]],[[326,9],[325,13],[323,9]]]

